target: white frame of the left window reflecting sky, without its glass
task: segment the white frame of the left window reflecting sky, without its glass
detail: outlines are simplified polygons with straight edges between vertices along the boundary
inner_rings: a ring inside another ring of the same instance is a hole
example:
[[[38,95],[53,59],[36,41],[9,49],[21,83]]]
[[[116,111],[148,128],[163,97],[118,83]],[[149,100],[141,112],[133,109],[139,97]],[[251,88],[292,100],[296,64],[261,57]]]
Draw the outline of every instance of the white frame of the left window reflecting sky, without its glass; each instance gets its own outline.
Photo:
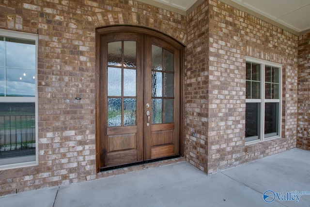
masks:
[[[34,97],[0,97],[0,102],[34,102],[35,105],[35,156],[26,156],[26,157],[18,157],[18,158],[8,158],[8,161],[14,161],[18,160],[18,163],[14,164],[3,164],[0,165],[0,171],[1,170],[7,170],[7,169],[14,169],[14,168],[20,168],[20,167],[30,167],[30,166],[36,166],[38,165],[38,35],[32,34],[32,33],[26,33],[26,32],[16,32],[16,31],[10,31],[10,30],[3,30],[0,29],[0,36],[6,36],[6,37],[12,37],[16,39],[26,39],[26,40],[32,40],[35,41],[35,96]],[[31,159],[29,159],[30,157]],[[35,161],[33,160],[35,157]]]

